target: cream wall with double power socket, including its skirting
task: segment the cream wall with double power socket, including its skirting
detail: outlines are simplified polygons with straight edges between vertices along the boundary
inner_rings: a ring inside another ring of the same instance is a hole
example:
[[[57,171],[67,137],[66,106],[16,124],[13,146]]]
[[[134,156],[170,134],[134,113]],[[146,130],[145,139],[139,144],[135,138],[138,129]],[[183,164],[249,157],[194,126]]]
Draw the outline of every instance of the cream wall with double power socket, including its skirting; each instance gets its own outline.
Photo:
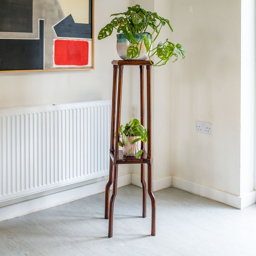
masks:
[[[173,0],[172,23],[187,52],[172,66],[173,185],[240,208],[241,1]]]

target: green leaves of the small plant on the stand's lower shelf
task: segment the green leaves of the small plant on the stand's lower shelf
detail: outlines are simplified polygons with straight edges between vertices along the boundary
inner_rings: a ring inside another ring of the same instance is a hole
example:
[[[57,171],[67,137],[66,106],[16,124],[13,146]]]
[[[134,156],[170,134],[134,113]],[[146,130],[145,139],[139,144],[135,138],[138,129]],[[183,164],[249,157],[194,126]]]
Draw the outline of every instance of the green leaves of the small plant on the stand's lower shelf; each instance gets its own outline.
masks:
[[[126,125],[120,126],[120,137],[122,137],[123,143],[127,144],[128,143],[127,137],[135,137],[135,136],[139,136],[139,138],[132,140],[131,145],[133,145],[139,140],[141,140],[144,143],[147,142],[148,132],[147,132],[147,129],[145,129],[143,125],[140,124],[140,121],[138,119],[131,118],[131,120],[128,123],[126,123]],[[119,139],[119,145],[121,147],[124,146],[123,143]],[[138,152],[135,155],[136,158],[140,157],[143,153],[142,149],[137,148],[137,150]],[[130,152],[131,152],[131,148],[129,149],[126,156],[128,156]]]

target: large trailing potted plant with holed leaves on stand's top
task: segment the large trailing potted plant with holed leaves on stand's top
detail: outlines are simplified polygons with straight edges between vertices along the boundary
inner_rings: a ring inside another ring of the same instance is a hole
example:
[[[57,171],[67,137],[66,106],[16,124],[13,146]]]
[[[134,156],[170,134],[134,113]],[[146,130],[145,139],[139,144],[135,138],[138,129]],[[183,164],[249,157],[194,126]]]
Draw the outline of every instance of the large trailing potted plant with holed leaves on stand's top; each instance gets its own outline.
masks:
[[[177,61],[178,55],[185,58],[186,52],[182,45],[173,44],[169,38],[153,47],[163,26],[167,24],[170,31],[173,31],[169,20],[160,17],[156,12],[145,11],[137,4],[128,7],[126,12],[111,16],[116,17],[100,30],[98,39],[110,36],[116,29],[118,33],[116,49],[122,59],[149,59],[153,66],[162,66],[170,59],[173,62]],[[155,64],[151,61],[154,55],[158,58]]]

